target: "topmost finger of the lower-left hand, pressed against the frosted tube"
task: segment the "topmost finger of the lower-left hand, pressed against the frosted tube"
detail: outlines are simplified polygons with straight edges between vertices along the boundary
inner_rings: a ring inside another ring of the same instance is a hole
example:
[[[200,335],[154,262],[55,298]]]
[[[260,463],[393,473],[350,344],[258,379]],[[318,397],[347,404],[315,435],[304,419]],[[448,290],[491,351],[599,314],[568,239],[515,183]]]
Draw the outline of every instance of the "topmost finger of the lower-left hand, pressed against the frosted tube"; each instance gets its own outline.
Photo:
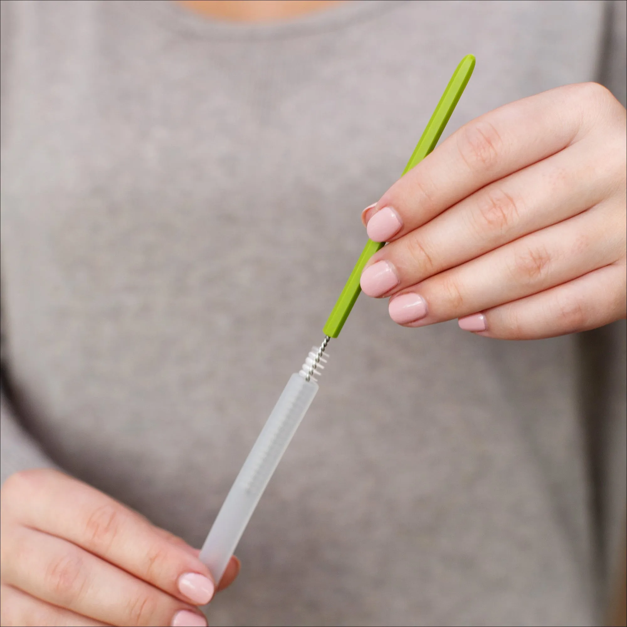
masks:
[[[122,503],[63,473],[24,473],[21,483],[14,514],[24,525],[70,540],[187,603],[213,597],[198,556]]]

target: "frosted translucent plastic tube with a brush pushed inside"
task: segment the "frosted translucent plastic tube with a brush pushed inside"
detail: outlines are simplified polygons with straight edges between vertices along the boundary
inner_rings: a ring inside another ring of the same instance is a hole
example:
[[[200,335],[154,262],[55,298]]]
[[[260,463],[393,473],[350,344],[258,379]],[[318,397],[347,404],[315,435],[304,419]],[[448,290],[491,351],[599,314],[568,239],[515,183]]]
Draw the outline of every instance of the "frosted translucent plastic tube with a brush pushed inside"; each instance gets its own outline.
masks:
[[[306,381],[302,372],[293,374],[261,429],[200,552],[216,584],[317,391],[313,379]]]

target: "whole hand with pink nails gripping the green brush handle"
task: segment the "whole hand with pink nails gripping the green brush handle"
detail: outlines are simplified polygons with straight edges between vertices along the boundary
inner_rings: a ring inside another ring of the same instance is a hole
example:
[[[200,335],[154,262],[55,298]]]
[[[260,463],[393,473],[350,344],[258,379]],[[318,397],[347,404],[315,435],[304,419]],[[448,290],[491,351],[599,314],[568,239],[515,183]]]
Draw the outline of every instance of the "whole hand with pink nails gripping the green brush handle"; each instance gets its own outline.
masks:
[[[406,327],[537,339],[626,313],[626,111],[596,83],[466,124],[364,210],[362,273]]]

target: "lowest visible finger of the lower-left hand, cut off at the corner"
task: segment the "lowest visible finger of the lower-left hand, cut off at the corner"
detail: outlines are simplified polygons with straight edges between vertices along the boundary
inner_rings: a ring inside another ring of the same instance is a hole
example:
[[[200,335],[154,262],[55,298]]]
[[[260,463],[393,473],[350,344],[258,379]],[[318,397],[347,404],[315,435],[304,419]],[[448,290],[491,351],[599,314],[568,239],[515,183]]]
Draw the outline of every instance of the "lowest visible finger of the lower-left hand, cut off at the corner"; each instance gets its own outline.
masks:
[[[69,609],[58,608],[13,586],[2,584],[0,596],[2,597],[0,623],[3,626],[94,627],[107,624],[76,614]]]

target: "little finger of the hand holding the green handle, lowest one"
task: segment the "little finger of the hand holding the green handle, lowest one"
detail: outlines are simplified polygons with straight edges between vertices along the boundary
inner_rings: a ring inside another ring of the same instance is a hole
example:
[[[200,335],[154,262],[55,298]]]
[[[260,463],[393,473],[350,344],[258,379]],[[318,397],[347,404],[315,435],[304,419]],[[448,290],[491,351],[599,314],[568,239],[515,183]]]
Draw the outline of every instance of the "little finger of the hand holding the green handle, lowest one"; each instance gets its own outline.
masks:
[[[502,340],[537,340],[596,329],[625,317],[625,260],[604,266],[480,314],[460,318],[462,329]]]

